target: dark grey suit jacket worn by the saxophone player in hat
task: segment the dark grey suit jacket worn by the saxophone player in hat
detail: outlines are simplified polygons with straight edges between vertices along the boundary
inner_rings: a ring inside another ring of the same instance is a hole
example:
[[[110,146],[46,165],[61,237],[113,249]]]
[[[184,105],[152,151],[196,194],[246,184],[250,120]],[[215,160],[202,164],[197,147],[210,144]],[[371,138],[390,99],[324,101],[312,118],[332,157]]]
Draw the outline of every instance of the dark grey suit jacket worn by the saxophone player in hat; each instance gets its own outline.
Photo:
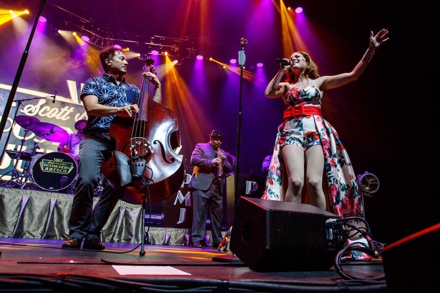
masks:
[[[221,150],[223,154],[226,153]],[[216,176],[216,166],[211,161],[217,156],[216,151],[211,147],[209,142],[199,143],[195,145],[191,154],[191,165],[194,166],[191,180],[189,180],[188,187],[193,189],[207,190]],[[227,159],[223,162],[223,174],[227,174],[232,170],[231,164]],[[224,183],[224,180],[222,180]],[[221,192],[223,193],[223,185],[220,184]]]

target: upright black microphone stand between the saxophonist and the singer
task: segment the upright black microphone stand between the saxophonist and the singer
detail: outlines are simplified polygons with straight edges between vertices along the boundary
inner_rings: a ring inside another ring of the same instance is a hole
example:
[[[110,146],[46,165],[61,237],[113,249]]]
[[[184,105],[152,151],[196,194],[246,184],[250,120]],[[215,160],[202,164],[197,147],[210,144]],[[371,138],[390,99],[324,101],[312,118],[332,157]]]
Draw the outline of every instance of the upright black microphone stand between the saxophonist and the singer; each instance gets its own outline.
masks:
[[[246,63],[246,55],[245,55],[245,45],[248,43],[248,40],[245,38],[240,39],[241,50],[238,51],[238,65],[240,65],[240,97],[238,99],[238,125],[237,125],[237,157],[236,157],[236,167],[235,167],[235,204],[234,209],[237,207],[237,202],[239,198],[238,194],[238,183],[240,176],[240,138],[241,138],[241,97],[242,97],[242,89],[243,89],[243,68]]]

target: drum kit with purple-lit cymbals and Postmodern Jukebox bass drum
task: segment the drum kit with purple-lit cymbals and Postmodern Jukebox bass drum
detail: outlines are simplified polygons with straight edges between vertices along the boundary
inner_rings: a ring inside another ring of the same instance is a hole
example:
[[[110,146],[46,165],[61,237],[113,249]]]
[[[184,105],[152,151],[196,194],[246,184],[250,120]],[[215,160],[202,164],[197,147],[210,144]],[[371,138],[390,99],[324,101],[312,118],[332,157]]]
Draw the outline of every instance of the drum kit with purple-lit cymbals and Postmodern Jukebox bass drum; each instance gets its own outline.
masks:
[[[61,143],[69,139],[66,130],[52,123],[41,122],[32,116],[17,116],[15,122],[25,129],[25,135],[18,150],[6,150],[12,159],[16,159],[9,187],[30,188],[46,191],[68,190],[77,177],[77,162],[63,152],[38,152],[38,142],[34,142],[31,152],[21,151],[29,131],[50,142]],[[25,161],[22,174],[17,171],[18,161]]]

